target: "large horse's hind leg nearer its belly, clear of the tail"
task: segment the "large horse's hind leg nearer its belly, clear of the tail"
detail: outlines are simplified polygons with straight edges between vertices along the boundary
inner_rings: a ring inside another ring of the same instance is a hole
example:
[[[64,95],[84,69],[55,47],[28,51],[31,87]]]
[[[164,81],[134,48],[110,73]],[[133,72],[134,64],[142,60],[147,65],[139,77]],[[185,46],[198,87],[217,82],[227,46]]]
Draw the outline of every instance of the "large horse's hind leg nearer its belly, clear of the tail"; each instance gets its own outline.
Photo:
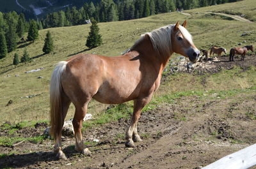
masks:
[[[90,99],[88,99],[82,105],[80,104],[75,105],[76,113],[74,115],[74,119],[72,122],[74,131],[75,131],[75,136],[76,136],[76,151],[81,152],[82,154],[85,154],[85,155],[88,155],[91,153],[87,148],[84,147],[83,136],[82,136],[83,119],[84,119],[84,116],[86,115],[87,106],[89,102],[90,102]]]

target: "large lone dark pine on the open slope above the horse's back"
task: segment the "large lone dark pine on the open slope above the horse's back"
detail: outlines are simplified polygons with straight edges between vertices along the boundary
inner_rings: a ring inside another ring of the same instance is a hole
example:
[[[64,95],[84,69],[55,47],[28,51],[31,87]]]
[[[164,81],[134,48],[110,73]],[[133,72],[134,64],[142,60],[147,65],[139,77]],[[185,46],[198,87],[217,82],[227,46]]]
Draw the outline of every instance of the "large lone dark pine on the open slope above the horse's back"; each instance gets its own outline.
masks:
[[[92,26],[90,26],[90,33],[86,40],[86,47],[95,48],[102,44],[101,35],[99,34],[99,27],[96,20],[92,20]]]

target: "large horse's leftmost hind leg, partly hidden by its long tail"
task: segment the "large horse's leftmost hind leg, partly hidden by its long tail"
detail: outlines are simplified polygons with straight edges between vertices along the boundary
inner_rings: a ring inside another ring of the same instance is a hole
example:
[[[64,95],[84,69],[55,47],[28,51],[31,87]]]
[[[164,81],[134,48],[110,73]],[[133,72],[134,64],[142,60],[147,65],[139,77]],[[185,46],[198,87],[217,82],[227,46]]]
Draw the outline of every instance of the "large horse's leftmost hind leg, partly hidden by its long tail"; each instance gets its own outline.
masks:
[[[63,113],[63,119],[62,119],[62,124],[61,124],[61,131],[62,131],[62,127],[64,124],[64,120],[65,117],[67,115],[68,112],[68,107],[70,105],[70,99],[67,98],[67,96],[63,96],[62,98],[62,113]],[[55,144],[54,144],[54,152],[57,153],[57,158],[60,159],[67,159],[64,152],[61,149],[61,131],[59,132],[60,135],[57,136],[56,140],[55,140]]]

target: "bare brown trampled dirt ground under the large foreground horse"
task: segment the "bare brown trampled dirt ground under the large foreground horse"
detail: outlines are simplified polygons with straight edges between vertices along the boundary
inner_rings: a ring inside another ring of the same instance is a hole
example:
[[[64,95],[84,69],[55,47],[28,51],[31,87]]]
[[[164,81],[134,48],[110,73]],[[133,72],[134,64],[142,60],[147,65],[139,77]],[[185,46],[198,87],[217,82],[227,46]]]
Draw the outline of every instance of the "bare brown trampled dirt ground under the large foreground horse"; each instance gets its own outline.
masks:
[[[256,66],[255,55],[245,61],[215,62],[217,71],[241,66]],[[216,70],[209,71],[216,73]],[[135,148],[124,146],[128,119],[110,122],[83,132],[91,156],[74,151],[74,137],[63,138],[67,161],[57,160],[52,140],[22,142],[1,147],[0,168],[201,168],[232,152],[252,145],[256,140],[256,91],[235,96],[218,94],[186,96],[144,112],[138,124],[143,142]],[[19,130],[20,136],[41,135],[45,124]],[[1,135],[7,135],[0,130]],[[92,138],[100,142],[93,143]],[[255,167],[256,168],[256,167]]]

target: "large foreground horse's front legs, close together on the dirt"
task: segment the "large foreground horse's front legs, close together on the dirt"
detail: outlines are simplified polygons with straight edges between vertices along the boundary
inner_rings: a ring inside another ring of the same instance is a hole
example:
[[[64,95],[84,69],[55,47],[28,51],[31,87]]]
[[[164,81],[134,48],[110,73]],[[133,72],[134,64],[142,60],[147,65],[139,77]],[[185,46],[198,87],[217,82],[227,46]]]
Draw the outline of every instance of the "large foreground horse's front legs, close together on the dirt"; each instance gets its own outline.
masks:
[[[134,100],[133,114],[131,118],[131,123],[126,131],[125,142],[126,147],[135,147],[134,142],[142,141],[137,131],[138,120],[140,119],[141,110],[150,101],[152,94],[146,98]]]

